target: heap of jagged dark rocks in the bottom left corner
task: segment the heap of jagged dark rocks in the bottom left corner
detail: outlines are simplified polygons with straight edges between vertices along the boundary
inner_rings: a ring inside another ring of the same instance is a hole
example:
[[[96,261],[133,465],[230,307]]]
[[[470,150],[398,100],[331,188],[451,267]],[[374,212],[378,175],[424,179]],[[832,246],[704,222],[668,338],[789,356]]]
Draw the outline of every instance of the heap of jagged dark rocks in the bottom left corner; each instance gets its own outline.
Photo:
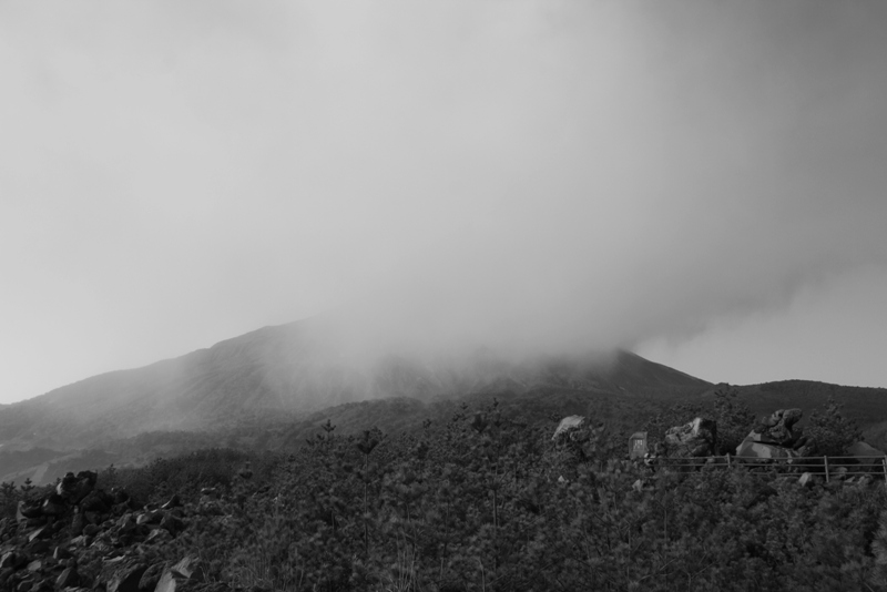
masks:
[[[95,489],[98,474],[68,473],[55,490],[19,503],[0,520],[0,590],[11,592],[223,592],[204,581],[194,558],[152,562],[188,525],[177,496],[161,507],[141,506],[124,490]],[[214,493],[214,492],[212,492]],[[191,512],[218,512],[211,492]]]

